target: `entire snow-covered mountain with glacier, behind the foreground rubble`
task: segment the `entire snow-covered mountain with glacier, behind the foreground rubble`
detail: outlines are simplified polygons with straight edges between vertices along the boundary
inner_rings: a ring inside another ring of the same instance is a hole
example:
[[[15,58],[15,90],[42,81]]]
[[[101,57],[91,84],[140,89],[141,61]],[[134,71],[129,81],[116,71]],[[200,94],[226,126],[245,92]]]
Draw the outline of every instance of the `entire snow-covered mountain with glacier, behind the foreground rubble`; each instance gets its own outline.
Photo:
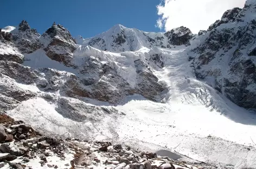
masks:
[[[198,35],[115,25],[84,39],[55,23],[42,35],[26,21],[5,27],[0,109],[62,137],[255,168],[255,9],[247,1]]]

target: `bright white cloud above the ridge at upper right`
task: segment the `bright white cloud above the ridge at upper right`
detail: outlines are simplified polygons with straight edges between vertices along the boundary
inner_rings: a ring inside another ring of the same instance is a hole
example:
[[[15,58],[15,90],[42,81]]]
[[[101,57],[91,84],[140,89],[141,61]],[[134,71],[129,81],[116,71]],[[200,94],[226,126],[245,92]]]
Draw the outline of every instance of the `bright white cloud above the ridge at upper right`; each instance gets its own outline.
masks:
[[[222,14],[234,7],[243,8],[246,0],[163,0],[157,6],[156,26],[166,31],[184,26],[193,33],[207,30]]]

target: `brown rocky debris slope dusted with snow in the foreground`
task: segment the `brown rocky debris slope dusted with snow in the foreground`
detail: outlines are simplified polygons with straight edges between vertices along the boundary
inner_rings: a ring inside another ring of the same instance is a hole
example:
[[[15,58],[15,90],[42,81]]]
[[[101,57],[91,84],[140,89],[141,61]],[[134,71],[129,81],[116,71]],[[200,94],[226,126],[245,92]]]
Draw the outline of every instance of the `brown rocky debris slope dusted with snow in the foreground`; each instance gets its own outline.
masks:
[[[0,168],[223,168],[111,142],[48,137],[5,114],[0,114],[0,123]]]

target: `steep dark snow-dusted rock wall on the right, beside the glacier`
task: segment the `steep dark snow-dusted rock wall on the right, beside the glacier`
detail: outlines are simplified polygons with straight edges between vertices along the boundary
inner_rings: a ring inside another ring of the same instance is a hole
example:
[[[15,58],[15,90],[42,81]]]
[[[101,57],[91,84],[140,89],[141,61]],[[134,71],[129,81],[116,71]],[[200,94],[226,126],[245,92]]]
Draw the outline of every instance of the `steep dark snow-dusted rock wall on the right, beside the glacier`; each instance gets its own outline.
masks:
[[[226,11],[189,56],[197,78],[214,77],[215,89],[244,108],[256,108],[256,21],[249,16],[255,9],[251,4]]]

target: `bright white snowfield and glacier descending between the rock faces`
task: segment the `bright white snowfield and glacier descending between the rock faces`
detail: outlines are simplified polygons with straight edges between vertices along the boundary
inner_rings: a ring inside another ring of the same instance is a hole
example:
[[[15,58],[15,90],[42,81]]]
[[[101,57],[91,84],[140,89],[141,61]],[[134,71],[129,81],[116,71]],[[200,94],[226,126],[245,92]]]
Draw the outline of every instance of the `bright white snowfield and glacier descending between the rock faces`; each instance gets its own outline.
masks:
[[[136,81],[133,75],[133,61],[145,60],[149,53],[162,54],[164,68],[155,68],[159,81],[164,81],[167,90],[162,93],[161,102],[153,102],[141,95],[127,96],[119,105],[84,99],[83,104],[116,108],[118,113],[106,115],[96,111],[95,121],[76,120],[71,111],[61,109],[59,103],[42,98],[23,101],[18,107],[8,111],[15,119],[29,122],[46,132],[81,138],[112,140],[156,152],[168,150],[190,158],[209,163],[223,163],[235,168],[256,167],[256,114],[236,106],[217,93],[207,82],[196,80],[185,46],[172,49],[142,48],[138,51],[111,53],[87,46],[78,46],[74,57],[95,57],[101,62],[112,62],[119,76],[131,84]],[[50,60],[44,51],[37,50],[25,55],[25,66],[52,69],[76,74],[76,69],[68,68]],[[39,64],[40,62],[40,64]],[[13,82],[18,87],[39,93],[35,85]],[[78,99],[63,98],[59,91],[50,93],[56,100],[62,98],[69,102]],[[80,115],[83,107],[78,107]],[[249,147],[251,146],[251,147]]]

